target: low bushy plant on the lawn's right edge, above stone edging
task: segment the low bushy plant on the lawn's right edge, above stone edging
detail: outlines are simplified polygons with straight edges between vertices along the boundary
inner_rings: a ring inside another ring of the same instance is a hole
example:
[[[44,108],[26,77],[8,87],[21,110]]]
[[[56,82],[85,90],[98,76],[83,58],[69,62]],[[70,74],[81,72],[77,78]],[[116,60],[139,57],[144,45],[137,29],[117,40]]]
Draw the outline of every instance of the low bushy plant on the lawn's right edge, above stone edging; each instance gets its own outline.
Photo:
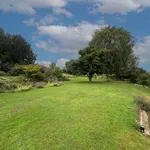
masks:
[[[150,97],[137,96],[135,97],[136,104],[144,110],[150,110]]]

